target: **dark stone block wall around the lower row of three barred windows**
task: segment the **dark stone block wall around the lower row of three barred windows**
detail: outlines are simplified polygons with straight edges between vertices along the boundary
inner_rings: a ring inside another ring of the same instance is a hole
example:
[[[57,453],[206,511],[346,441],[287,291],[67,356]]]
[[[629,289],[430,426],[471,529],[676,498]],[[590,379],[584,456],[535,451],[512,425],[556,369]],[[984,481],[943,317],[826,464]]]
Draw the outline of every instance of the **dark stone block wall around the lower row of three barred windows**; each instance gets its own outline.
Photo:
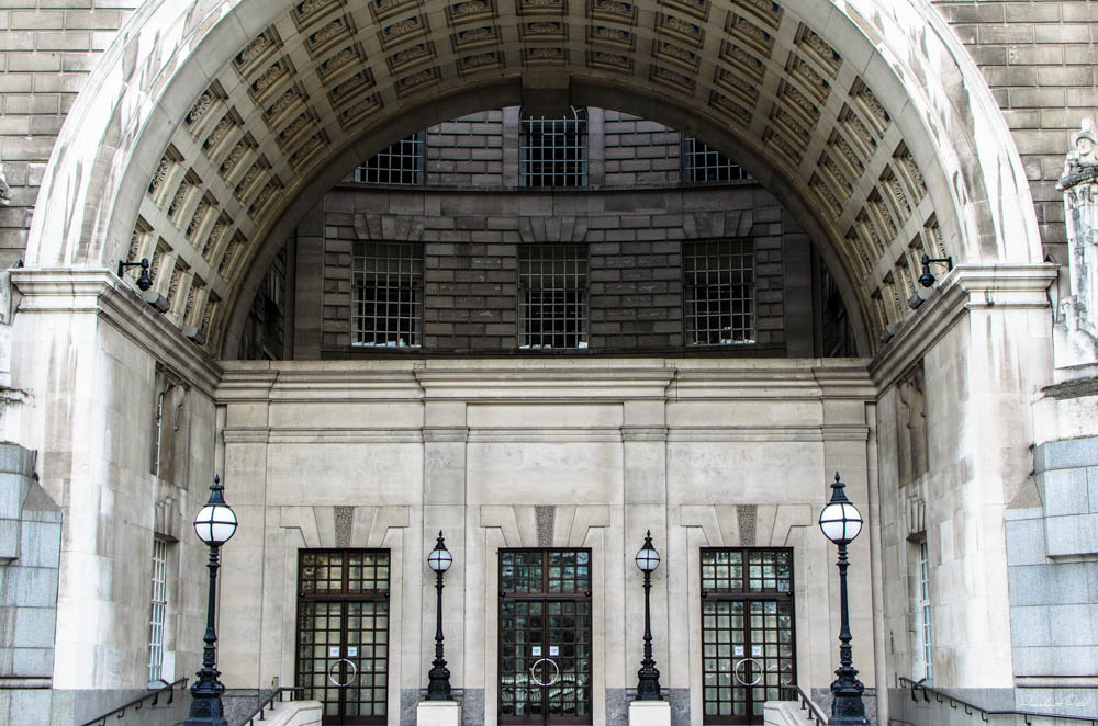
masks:
[[[682,260],[692,240],[753,242],[755,343],[737,347],[741,354],[784,355],[786,297],[810,288],[787,288],[783,240],[802,232],[754,185],[550,194],[359,185],[329,192],[323,209],[323,281],[299,274],[296,325],[322,330],[323,358],[401,354],[351,344],[356,240],[422,245],[423,349],[405,353],[516,352],[524,245],[585,248],[592,352],[702,350],[688,345],[684,333]],[[323,303],[304,304],[303,296],[317,291]],[[304,310],[322,310],[323,317],[307,322]],[[810,340],[803,342],[810,348]]]

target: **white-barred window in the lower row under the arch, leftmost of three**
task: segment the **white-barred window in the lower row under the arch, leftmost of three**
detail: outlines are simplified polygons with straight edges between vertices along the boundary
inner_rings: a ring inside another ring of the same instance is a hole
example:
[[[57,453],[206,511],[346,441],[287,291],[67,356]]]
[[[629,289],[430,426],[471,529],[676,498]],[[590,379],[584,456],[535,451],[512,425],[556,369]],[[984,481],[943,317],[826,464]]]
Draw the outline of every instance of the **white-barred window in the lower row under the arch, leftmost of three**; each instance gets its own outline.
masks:
[[[355,243],[355,345],[421,345],[423,247],[396,242]]]

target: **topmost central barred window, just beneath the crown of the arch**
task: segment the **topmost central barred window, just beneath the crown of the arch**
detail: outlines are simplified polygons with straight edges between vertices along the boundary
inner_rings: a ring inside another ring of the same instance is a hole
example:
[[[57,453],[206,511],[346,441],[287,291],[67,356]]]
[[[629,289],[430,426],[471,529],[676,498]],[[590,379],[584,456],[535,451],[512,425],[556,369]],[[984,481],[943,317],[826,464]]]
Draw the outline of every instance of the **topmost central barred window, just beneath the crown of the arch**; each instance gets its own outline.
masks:
[[[586,186],[587,110],[562,118],[523,116],[523,186]]]

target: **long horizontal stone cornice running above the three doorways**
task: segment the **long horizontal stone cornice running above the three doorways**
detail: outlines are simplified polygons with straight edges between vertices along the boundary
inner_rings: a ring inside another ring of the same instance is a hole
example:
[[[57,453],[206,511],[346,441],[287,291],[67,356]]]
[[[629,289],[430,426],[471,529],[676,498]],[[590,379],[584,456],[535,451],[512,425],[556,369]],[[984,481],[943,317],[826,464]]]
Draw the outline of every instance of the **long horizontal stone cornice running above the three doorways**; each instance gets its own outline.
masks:
[[[873,400],[865,359],[226,361],[219,401]]]

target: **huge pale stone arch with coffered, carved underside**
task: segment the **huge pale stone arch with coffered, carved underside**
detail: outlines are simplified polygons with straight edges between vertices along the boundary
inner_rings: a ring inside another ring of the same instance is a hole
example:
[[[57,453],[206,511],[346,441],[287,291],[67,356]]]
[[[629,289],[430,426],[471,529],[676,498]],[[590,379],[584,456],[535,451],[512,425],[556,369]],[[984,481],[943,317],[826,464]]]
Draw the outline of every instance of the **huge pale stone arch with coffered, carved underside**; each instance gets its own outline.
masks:
[[[148,257],[168,315],[231,354],[234,307],[350,167],[561,91],[733,150],[814,231],[872,345],[925,252],[1040,260],[1009,133],[922,0],[161,0],[78,99],[29,264]]]

